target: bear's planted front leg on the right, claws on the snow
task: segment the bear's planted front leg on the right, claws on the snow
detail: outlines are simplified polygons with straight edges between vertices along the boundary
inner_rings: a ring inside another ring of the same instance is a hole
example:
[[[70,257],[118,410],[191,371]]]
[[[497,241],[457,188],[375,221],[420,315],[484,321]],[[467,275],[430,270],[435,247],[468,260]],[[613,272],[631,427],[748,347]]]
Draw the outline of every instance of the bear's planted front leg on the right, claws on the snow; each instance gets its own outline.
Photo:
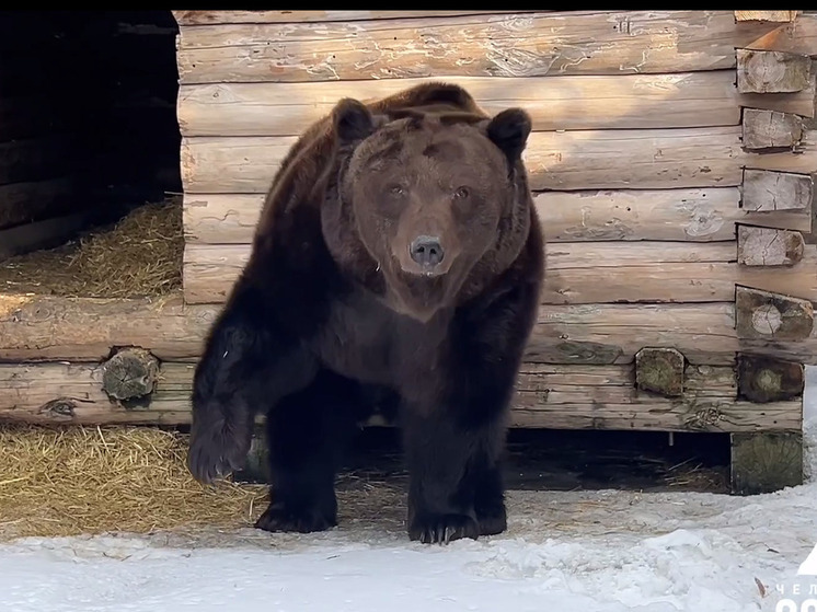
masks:
[[[520,282],[460,311],[445,371],[433,377],[433,396],[404,407],[412,540],[448,542],[505,530],[498,459],[538,300],[537,282]]]

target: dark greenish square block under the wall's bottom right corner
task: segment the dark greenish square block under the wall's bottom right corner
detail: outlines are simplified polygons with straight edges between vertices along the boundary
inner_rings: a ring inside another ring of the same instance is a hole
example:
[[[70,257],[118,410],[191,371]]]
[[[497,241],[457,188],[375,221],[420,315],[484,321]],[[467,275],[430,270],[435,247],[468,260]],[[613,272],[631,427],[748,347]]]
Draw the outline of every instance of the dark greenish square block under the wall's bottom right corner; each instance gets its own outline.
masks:
[[[732,435],[732,492],[772,493],[803,484],[803,435],[798,431]]]

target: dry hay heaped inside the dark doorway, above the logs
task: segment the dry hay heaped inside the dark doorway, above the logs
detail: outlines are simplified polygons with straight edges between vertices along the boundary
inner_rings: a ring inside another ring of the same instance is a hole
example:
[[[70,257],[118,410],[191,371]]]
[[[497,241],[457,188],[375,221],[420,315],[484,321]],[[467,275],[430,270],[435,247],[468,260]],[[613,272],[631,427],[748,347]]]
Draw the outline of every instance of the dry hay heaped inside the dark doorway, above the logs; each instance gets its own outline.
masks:
[[[0,291],[139,298],[182,287],[181,198],[147,204],[57,249],[0,262]]]

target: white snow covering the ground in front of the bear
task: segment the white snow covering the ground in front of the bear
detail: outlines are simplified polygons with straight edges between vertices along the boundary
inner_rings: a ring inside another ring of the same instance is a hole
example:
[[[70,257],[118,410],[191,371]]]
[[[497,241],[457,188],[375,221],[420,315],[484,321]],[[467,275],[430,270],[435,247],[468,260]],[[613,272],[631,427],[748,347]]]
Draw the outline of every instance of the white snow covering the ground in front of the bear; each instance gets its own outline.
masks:
[[[19,540],[0,547],[0,610],[746,612],[817,598],[817,576],[796,576],[817,544],[817,482],[748,498],[513,492],[509,512],[502,536],[447,547],[386,520],[312,535]]]

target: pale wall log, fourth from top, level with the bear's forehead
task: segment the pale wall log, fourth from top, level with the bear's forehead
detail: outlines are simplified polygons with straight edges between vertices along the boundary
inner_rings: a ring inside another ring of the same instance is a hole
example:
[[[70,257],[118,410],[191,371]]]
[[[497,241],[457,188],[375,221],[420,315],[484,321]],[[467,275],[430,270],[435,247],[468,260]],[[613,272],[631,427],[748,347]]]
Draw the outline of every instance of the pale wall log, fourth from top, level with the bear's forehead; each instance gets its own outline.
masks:
[[[747,153],[740,127],[539,131],[523,153],[531,188],[576,190],[737,186],[743,166],[817,171],[817,132],[803,152]],[[266,193],[294,137],[196,137],[182,141],[185,193]]]

